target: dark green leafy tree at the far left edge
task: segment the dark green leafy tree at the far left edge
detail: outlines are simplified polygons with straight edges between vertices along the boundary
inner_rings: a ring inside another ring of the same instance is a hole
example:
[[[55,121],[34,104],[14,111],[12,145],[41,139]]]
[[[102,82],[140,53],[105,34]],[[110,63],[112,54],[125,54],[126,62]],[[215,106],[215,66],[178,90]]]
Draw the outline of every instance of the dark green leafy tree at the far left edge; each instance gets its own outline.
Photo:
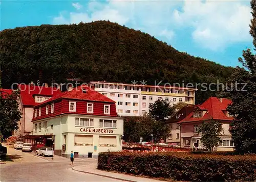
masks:
[[[22,117],[18,110],[17,93],[3,95],[0,92],[0,136],[6,139],[18,129],[18,121]]]

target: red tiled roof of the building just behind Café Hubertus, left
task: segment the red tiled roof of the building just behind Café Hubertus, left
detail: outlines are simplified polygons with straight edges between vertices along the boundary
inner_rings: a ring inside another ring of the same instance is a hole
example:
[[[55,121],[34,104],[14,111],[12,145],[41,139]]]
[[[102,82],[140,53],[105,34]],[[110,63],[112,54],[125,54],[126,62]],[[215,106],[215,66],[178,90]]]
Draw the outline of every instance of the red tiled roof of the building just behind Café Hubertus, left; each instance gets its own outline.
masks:
[[[59,89],[54,87],[40,87],[35,85],[18,85],[20,90],[20,99],[24,106],[34,106],[36,105],[33,95],[44,95],[44,96],[54,96],[61,93]]]

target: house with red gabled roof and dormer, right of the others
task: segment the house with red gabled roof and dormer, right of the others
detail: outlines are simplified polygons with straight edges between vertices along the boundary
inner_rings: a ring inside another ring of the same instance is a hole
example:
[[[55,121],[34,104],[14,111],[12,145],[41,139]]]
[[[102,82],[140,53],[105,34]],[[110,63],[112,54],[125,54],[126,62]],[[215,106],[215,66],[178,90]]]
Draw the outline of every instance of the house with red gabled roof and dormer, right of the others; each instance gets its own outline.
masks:
[[[230,124],[233,117],[227,111],[231,100],[226,98],[210,97],[203,104],[198,105],[196,109],[188,114],[178,124],[181,126],[181,147],[201,148],[201,134],[198,127],[204,121],[212,119],[218,120],[222,124],[224,132],[220,135],[222,142],[216,150],[231,151],[233,150],[233,140],[231,139]]]

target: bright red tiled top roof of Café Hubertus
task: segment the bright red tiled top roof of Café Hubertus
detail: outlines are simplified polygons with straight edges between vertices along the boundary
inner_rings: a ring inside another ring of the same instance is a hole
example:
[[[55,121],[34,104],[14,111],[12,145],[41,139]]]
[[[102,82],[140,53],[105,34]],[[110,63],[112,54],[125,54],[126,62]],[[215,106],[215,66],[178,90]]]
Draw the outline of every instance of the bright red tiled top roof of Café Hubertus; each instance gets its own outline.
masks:
[[[86,89],[86,93],[83,93],[82,89]],[[58,93],[52,98],[46,100],[45,102],[38,103],[35,106],[44,105],[46,103],[52,102],[53,100],[57,100],[59,98],[98,101],[103,103],[116,103],[114,100],[102,95],[101,93],[91,89],[88,86],[79,86],[79,87],[73,88],[73,90],[71,91]]]

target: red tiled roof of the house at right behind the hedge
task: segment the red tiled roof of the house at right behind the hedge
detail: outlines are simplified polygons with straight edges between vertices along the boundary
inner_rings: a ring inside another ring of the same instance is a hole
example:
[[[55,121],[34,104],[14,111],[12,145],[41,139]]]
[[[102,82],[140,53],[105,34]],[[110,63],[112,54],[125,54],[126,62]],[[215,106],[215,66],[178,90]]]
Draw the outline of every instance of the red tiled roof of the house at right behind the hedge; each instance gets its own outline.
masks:
[[[220,102],[217,97],[210,97],[203,104],[198,106],[199,110],[207,110],[203,117],[193,117],[195,113],[195,111],[193,111],[178,123],[197,122],[209,119],[233,120],[233,117],[228,117],[223,112],[229,104],[231,104],[231,100],[229,99],[222,98],[222,102]]]

